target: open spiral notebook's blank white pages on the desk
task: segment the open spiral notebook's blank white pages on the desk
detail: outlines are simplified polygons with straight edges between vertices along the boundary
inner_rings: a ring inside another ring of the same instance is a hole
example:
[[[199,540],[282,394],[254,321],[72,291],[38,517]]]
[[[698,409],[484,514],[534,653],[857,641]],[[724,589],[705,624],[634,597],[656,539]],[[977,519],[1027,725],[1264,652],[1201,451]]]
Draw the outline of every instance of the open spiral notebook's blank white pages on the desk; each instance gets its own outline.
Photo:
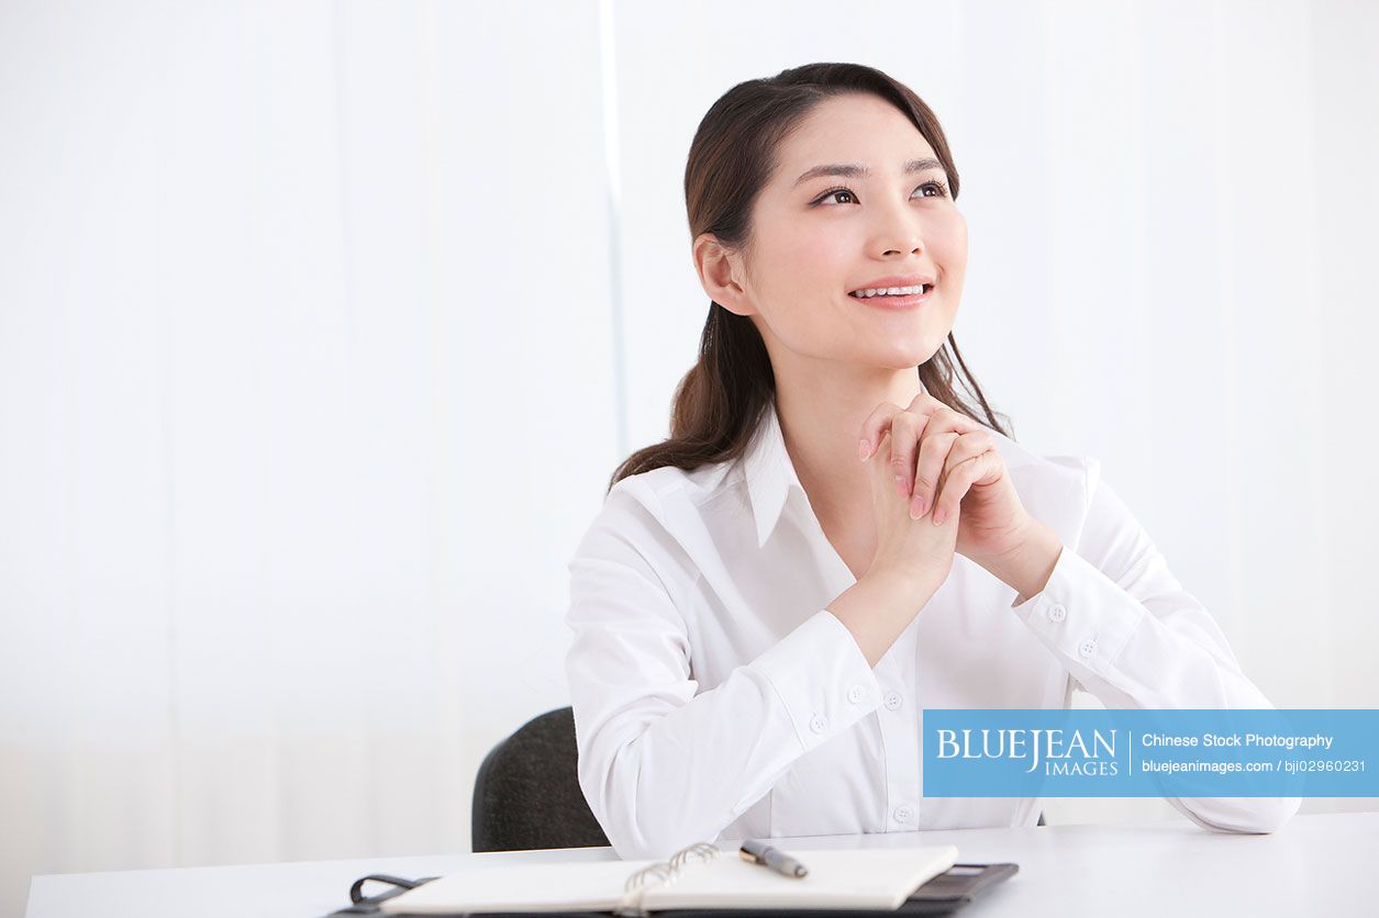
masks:
[[[808,868],[785,877],[728,848],[691,845],[669,861],[616,860],[477,867],[379,904],[385,914],[666,908],[895,910],[957,861],[953,845],[782,849]]]

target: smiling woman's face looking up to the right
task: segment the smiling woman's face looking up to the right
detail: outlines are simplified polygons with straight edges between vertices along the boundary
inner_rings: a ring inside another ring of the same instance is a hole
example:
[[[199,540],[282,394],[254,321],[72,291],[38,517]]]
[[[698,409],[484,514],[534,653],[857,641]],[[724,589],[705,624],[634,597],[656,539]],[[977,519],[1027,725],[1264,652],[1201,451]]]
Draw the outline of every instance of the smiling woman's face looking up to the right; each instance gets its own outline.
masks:
[[[912,160],[932,160],[907,171]],[[822,174],[858,165],[869,174]],[[845,189],[845,190],[844,190]],[[891,103],[849,94],[819,103],[786,139],[757,197],[752,244],[734,254],[742,292],[724,303],[753,314],[772,360],[801,357],[913,368],[943,346],[967,272],[967,219],[918,128]],[[892,276],[935,287],[918,307],[887,309],[849,294]],[[723,302],[721,299],[718,302]],[[779,365],[779,364],[778,364]]]

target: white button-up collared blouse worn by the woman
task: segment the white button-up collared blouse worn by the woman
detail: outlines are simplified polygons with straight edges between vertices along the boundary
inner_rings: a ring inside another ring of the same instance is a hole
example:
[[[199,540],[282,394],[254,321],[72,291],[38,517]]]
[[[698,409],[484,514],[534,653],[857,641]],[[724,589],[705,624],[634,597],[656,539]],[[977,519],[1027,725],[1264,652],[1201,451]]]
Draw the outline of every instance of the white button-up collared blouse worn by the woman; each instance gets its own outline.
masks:
[[[985,426],[983,426],[985,427]],[[696,841],[1033,826],[1040,798],[921,797],[923,708],[1271,708],[1091,458],[985,427],[1062,539],[1016,591],[963,555],[870,667],[825,606],[856,583],[768,409],[738,462],[619,481],[570,562],[579,786],[625,859]],[[1300,798],[1168,798],[1266,833]]]

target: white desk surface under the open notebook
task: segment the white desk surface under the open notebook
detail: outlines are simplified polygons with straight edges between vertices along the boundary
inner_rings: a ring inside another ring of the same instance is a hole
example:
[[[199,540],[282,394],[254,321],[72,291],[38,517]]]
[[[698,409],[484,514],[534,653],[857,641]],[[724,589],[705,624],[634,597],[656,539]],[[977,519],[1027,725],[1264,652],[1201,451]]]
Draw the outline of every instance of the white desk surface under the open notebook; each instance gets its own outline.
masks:
[[[963,861],[1020,871],[958,914],[1354,915],[1375,914],[1379,813],[1295,816],[1273,835],[1208,833],[1187,820],[1132,826],[964,828],[776,839],[782,848],[952,844]],[[723,842],[732,849],[732,842]],[[611,848],[376,857],[368,860],[48,874],[29,886],[26,918],[320,918],[349,904],[367,874],[439,877],[492,859],[616,860]],[[365,895],[389,886],[367,884]]]

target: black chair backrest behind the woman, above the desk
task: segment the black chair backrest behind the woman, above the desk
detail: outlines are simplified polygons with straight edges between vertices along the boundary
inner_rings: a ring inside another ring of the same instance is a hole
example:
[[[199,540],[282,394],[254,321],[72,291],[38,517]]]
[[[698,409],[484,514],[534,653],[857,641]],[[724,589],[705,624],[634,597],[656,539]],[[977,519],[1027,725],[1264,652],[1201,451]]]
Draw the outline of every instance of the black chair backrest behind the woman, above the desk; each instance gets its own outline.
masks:
[[[473,849],[608,845],[579,788],[578,754],[570,707],[534,717],[495,746],[474,779]]]

